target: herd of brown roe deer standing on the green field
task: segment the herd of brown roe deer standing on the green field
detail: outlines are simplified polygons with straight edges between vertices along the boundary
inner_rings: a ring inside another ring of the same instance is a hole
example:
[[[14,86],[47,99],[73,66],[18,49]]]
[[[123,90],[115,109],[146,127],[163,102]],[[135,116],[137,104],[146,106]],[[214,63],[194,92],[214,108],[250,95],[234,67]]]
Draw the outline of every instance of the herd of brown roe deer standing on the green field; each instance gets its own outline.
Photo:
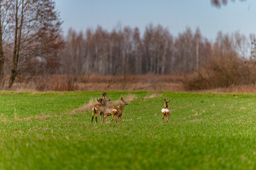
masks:
[[[120,106],[107,106],[106,102],[111,101],[108,98],[108,95],[106,91],[102,92],[103,98],[97,98],[98,103],[94,104],[92,107],[92,117],[91,117],[91,123],[94,121],[94,115],[96,114],[96,123],[98,123],[97,118],[99,115],[101,115],[101,123],[104,123],[104,118],[106,118],[106,123],[108,123],[108,116],[112,115],[111,123],[113,121],[113,117],[116,115],[116,123],[121,122],[121,117],[123,115],[123,107],[128,105],[126,101],[123,100],[121,97],[121,103]],[[165,108],[162,108],[162,123],[164,123],[164,118],[166,117],[166,123],[168,123],[169,115],[171,111],[168,108],[169,100],[165,101]]]

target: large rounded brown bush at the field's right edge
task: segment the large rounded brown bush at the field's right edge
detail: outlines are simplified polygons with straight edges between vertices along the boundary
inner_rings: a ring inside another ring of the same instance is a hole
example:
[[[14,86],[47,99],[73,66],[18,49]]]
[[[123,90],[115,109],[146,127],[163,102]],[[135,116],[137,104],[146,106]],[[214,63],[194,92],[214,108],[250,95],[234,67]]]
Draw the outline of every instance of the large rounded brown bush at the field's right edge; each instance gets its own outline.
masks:
[[[212,57],[205,66],[184,79],[187,90],[215,89],[219,87],[255,84],[256,64],[229,53]]]

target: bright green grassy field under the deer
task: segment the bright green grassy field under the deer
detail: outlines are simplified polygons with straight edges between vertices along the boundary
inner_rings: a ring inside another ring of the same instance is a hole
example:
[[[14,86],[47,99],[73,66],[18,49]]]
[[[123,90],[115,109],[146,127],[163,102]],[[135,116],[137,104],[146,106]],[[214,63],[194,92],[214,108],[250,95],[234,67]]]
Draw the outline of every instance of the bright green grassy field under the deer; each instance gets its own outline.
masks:
[[[130,94],[120,124],[91,124],[72,111],[101,91],[0,92],[0,169],[256,169],[255,94],[108,91]]]

